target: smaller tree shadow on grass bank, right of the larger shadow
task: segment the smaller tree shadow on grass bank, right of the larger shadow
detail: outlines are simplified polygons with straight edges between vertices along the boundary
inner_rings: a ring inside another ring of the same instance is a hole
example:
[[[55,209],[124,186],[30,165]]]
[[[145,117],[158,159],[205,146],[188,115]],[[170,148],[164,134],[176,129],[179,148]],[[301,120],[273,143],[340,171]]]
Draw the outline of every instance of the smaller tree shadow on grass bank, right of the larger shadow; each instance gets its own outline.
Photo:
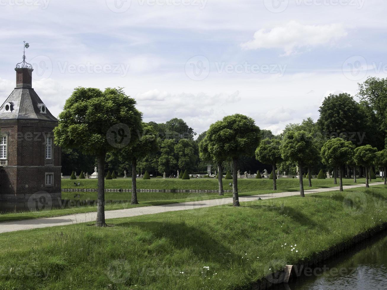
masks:
[[[285,205],[250,205],[246,206],[250,207],[253,209],[259,209],[259,210],[264,210],[267,212],[276,212],[279,213],[280,215],[286,215],[289,218],[293,220],[293,222],[298,223],[299,225],[302,226],[307,226],[307,227],[312,227],[312,228],[319,228],[325,230],[326,228],[313,220],[311,220],[309,217],[301,213],[299,210],[296,208],[293,208],[291,206],[285,206]]]

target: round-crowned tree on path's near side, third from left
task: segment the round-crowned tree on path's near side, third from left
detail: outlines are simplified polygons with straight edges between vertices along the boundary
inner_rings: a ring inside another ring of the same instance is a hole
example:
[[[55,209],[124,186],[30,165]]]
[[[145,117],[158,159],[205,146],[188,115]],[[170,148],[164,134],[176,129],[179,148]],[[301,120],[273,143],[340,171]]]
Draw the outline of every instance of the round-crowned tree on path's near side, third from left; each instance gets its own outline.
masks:
[[[305,160],[312,158],[313,136],[305,131],[289,131],[281,143],[281,156],[284,160],[298,164],[298,170],[303,171]],[[303,176],[300,174],[300,195],[305,197]]]

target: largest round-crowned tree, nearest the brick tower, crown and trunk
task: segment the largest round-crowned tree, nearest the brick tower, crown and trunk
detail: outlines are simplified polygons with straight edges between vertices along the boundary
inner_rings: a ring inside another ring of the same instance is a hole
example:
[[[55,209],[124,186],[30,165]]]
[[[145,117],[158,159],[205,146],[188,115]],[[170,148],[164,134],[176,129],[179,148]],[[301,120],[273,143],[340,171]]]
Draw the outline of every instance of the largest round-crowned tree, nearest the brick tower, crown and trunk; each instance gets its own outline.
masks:
[[[136,139],[141,113],[136,102],[122,89],[104,91],[78,87],[67,99],[58,126],[54,129],[56,145],[77,148],[96,157],[98,166],[98,203],[96,225],[105,223],[105,159],[107,152],[130,145]]]

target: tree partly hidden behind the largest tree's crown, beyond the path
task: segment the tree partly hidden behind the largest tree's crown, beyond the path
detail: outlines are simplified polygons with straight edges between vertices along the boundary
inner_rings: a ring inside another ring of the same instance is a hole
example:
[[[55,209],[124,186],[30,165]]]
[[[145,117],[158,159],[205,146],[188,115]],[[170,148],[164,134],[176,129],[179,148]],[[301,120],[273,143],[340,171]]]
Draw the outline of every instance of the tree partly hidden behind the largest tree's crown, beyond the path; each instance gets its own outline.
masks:
[[[139,134],[137,143],[130,147],[124,147],[119,152],[122,162],[130,162],[132,164],[132,205],[139,204],[137,200],[137,160],[159,149],[157,142],[158,132],[151,125],[142,123],[141,128],[137,130],[137,134]]]

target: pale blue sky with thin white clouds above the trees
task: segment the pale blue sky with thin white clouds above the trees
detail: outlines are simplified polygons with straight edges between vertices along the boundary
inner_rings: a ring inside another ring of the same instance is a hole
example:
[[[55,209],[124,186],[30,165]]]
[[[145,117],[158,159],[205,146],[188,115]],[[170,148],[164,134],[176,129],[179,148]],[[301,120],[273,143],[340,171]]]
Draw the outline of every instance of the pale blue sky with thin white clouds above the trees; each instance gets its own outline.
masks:
[[[125,87],[145,121],[197,133],[241,113],[279,133],[387,76],[385,0],[0,0],[0,98],[23,41],[57,116],[77,86]]]

